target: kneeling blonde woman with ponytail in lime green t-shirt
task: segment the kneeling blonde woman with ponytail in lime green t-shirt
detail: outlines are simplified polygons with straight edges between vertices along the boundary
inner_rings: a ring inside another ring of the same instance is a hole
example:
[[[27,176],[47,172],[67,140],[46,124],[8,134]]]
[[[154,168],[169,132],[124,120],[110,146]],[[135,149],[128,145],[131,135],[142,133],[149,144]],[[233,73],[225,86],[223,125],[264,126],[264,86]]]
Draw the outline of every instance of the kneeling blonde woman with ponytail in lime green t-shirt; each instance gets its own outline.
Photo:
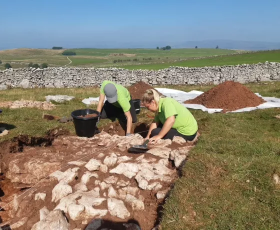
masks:
[[[193,140],[197,132],[197,122],[190,111],[170,97],[161,97],[154,89],[147,89],[141,98],[143,105],[155,112],[145,139],[156,142],[159,139],[172,139],[181,136]]]

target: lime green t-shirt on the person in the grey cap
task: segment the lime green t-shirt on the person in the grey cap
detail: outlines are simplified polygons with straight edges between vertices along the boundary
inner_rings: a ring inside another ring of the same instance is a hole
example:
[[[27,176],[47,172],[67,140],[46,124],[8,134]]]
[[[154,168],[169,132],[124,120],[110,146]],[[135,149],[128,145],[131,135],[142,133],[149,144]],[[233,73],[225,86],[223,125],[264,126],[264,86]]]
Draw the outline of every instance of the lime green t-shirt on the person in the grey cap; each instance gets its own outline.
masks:
[[[113,82],[111,80],[104,80],[100,87],[100,93],[103,95],[105,95],[104,86],[107,83],[112,83],[116,87],[117,101],[113,102],[112,104],[116,107],[122,108],[122,110],[124,112],[127,112],[130,109],[130,103],[129,103],[130,93],[128,92],[128,90],[125,87],[123,87],[122,85],[116,84],[115,82]]]

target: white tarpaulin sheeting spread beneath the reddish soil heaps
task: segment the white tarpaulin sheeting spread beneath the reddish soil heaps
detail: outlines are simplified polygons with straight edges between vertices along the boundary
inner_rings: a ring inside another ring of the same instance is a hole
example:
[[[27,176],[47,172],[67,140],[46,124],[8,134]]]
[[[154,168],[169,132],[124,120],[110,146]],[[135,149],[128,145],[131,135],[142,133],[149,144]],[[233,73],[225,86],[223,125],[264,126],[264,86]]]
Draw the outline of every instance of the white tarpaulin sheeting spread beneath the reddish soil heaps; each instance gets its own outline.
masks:
[[[201,109],[202,111],[204,111],[204,112],[206,111],[208,113],[220,112],[222,110],[221,108],[206,108],[205,106],[203,106],[201,104],[185,104],[184,103],[185,100],[193,99],[196,96],[202,94],[203,93],[202,91],[192,90],[189,92],[184,92],[184,91],[170,89],[170,88],[155,88],[155,89],[165,96],[174,98],[175,100],[179,101],[182,105],[184,105],[187,108]],[[251,111],[251,110],[255,110],[255,109],[280,107],[280,98],[261,96],[259,93],[255,93],[255,94],[258,95],[259,97],[262,97],[266,102],[263,104],[260,104],[256,107],[240,108],[238,110],[230,111],[230,112],[246,112],[246,111]],[[91,101],[97,102],[98,100],[99,100],[99,96],[85,98],[82,100],[82,102],[85,104],[90,104]],[[106,100],[106,97],[105,97],[105,100]]]

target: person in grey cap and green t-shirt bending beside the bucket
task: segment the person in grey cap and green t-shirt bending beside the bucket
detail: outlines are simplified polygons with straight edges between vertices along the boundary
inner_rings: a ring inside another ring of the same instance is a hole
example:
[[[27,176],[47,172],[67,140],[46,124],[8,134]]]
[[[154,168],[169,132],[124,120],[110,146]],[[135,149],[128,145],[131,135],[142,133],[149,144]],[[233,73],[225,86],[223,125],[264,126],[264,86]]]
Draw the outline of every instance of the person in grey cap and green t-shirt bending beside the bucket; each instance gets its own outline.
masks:
[[[103,104],[105,96],[106,101]],[[96,110],[101,113],[101,119],[118,118],[121,127],[126,131],[125,135],[130,135],[132,123],[137,121],[130,93],[122,85],[110,80],[104,80],[101,84]]]

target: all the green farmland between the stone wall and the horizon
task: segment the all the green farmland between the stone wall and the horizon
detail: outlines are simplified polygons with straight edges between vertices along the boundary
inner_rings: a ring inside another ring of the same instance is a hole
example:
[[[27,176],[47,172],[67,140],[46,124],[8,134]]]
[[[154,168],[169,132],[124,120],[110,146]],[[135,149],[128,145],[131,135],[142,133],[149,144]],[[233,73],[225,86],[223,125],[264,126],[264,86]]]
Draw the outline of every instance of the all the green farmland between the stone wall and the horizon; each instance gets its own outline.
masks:
[[[13,68],[27,67],[29,62],[39,64],[45,62],[49,67],[65,66],[70,61],[67,56],[61,54],[63,50],[27,48],[0,50],[0,60],[2,60],[0,69],[4,69],[5,62],[9,62]],[[280,62],[280,49],[249,53],[241,50],[204,48],[171,50],[78,48],[69,50],[76,52],[76,55],[68,56],[72,61],[67,65],[68,67],[122,67],[156,70],[169,66],[202,67],[265,61]]]

